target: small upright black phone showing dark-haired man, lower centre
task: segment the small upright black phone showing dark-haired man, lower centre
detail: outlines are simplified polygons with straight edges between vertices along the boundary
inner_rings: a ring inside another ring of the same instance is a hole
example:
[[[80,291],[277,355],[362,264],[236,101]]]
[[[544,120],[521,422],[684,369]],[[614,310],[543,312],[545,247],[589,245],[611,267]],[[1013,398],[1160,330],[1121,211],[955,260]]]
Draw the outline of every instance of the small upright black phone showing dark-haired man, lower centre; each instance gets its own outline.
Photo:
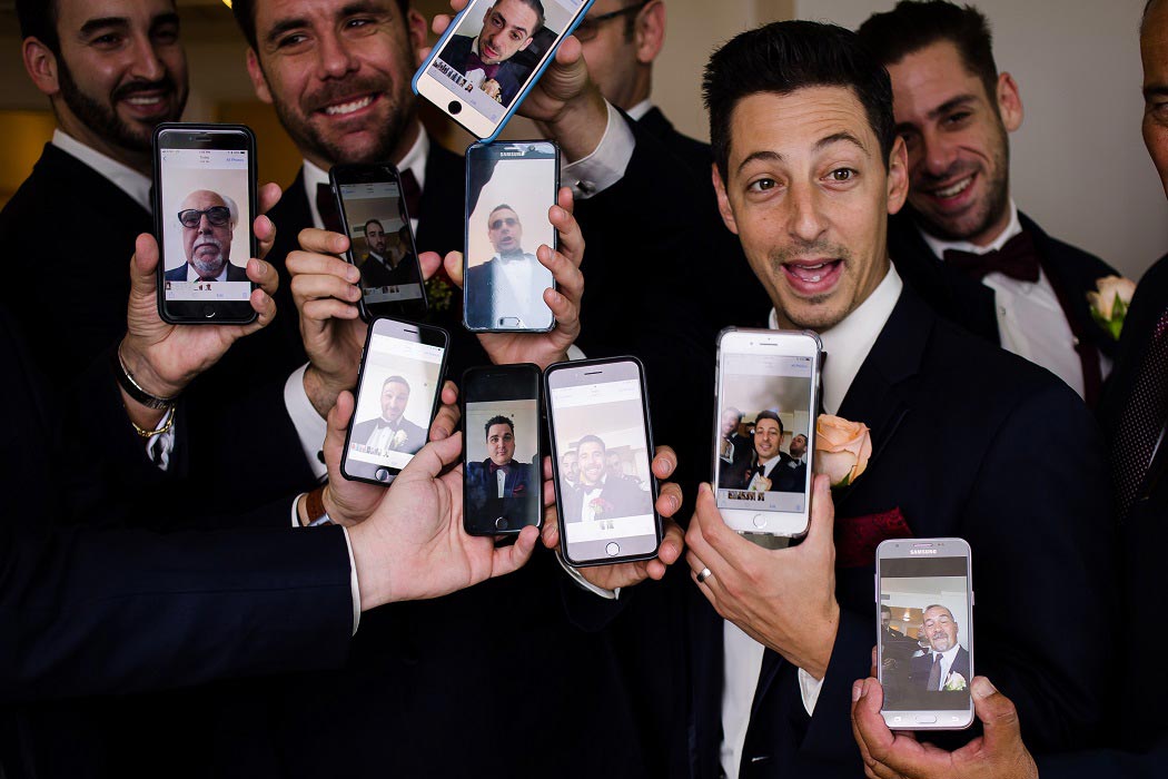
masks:
[[[530,363],[468,368],[463,374],[463,524],[471,535],[540,527],[540,368]]]

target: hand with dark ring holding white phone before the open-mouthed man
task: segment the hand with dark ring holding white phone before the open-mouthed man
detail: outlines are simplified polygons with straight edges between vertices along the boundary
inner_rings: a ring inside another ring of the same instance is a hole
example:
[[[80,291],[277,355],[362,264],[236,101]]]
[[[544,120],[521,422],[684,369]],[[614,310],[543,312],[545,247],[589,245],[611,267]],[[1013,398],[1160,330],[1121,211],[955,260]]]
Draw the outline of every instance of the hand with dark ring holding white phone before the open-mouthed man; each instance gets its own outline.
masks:
[[[835,507],[827,477],[815,477],[811,528],[798,547],[763,549],[731,530],[708,484],[686,533],[690,575],[702,594],[759,644],[815,679],[823,679],[840,624],[835,600]]]

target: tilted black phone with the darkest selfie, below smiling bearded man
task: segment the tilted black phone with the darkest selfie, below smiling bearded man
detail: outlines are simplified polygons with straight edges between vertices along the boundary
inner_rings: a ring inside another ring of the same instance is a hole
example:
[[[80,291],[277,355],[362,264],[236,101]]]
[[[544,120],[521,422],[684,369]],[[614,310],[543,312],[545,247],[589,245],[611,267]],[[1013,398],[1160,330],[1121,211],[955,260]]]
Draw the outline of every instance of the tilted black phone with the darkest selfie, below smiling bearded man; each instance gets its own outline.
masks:
[[[349,236],[346,259],[361,271],[361,318],[425,317],[426,288],[397,168],[338,165],[328,181]]]

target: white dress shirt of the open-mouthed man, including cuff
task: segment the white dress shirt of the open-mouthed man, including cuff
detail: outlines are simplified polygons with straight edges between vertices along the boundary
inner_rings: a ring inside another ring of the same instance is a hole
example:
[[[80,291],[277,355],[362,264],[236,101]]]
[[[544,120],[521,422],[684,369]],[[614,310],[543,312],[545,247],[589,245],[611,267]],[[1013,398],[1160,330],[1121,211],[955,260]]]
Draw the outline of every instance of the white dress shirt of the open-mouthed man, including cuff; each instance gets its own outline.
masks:
[[[867,300],[839,325],[819,334],[827,354],[823,361],[825,412],[836,413],[840,410],[848,388],[884,329],[903,288],[904,284],[896,269],[889,266],[884,279]],[[770,327],[779,327],[773,309]],[[723,642],[722,771],[726,779],[737,779],[742,747],[750,724],[750,709],[763,668],[764,647],[730,622],[723,630]],[[808,715],[815,714],[822,683],[823,680],[816,680],[802,668],[799,669],[799,691]]]

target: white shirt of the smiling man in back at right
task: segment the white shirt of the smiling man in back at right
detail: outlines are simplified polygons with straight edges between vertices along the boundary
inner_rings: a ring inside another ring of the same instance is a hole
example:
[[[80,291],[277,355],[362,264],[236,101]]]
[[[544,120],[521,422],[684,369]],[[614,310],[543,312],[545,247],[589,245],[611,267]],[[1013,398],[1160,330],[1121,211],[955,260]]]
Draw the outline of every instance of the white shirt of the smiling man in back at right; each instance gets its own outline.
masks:
[[[978,246],[967,241],[941,241],[924,230],[920,236],[933,253],[944,262],[946,249],[957,249],[973,255],[983,255],[1001,249],[1006,242],[1022,232],[1018,209],[1010,201],[1010,222],[994,241],[986,246]],[[1050,284],[1045,271],[1038,270],[1035,283],[1021,281],[1006,273],[987,273],[982,284],[994,291],[994,307],[997,315],[997,332],[1002,348],[1030,362],[1037,363],[1062,378],[1066,384],[1085,397],[1083,362],[1078,343],[1066,314],[1058,304],[1058,295]],[[1106,377],[1111,371],[1111,360],[1099,355],[1099,369]]]

